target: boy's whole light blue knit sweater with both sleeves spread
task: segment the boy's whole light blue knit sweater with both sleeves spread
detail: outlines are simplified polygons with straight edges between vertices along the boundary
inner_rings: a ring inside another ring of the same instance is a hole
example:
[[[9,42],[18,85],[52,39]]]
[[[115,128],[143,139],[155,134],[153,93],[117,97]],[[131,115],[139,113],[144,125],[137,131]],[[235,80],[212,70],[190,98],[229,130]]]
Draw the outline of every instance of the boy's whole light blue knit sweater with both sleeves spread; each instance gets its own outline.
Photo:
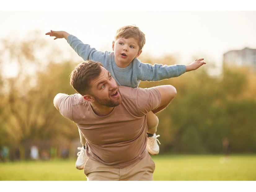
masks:
[[[161,81],[178,77],[186,72],[185,65],[151,65],[149,63],[142,63],[137,58],[133,59],[126,68],[119,68],[114,60],[114,52],[97,51],[73,35],[69,35],[67,41],[73,50],[85,61],[93,60],[100,62],[116,80],[117,85],[137,88],[140,81]]]

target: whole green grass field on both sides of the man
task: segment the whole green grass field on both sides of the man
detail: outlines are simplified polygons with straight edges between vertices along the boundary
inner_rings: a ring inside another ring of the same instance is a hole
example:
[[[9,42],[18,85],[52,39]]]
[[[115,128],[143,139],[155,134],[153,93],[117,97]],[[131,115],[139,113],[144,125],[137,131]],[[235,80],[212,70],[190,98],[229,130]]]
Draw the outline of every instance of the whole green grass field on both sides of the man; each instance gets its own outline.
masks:
[[[156,155],[154,181],[256,181],[256,155]],[[1,181],[86,181],[76,159],[0,163]]]

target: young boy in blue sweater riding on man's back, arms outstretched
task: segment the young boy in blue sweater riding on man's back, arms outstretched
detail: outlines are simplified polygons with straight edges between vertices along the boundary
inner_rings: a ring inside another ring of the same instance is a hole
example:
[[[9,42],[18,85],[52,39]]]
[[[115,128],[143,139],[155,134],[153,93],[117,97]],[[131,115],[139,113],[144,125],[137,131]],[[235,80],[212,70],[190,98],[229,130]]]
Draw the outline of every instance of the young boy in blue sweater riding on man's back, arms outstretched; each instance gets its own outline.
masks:
[[[113,78],[117,85],[129,86],[137,88],[140,81],[161,81],[172,77],[178,77],[185,72],[196,70],[205,62],[203,59],[196,59],[189,65],[162,65],[140,62],[137,57],[142,52],[145,44],[145,35],[136,26],[129,25],[121,27],[117,30],[114,41],[112,43],[113,52],[97,51],[91,48],[90,45],[84,44],[77,37],[65,31],[52,31],[46,35],[54,36],[54,40],[58,38],[65,38],[69,45],[76,51],[76,53],[84,60],[94,60],[102,63]],[[160,135],[156,135],[158,118],[151,111],[147,115],[148,123],[148,141],[147,150],[152,155],[159,153],[159,146],[157,144]],[[77,153],[76,168],[83,169],[86,163],[85,145],[86,140],[79,131],[80,141],[83,147],[78,147],[81,150]],[[160,142],[159,142],[160,144]]]

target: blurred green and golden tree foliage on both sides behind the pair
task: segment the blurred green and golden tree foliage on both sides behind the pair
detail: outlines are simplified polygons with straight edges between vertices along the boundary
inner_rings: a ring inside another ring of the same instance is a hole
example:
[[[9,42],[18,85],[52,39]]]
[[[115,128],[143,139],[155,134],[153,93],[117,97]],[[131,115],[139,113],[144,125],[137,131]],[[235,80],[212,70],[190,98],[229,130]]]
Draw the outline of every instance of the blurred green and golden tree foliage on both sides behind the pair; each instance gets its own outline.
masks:
[[[0,75],[0,147],[79,140],[76,125],[53,106],[57,93],[75,93],[69,74],[78,63],[72,58],[56,61],[53,55],[61,58],[61,49],[36,36],[1,42],[0,66],[16,63],[18,73]],[[172,55],[140,58],[145,63],[176,63]],[[255,79],[255,73],[230,68],[211,76],[206,64],[180,77],[141,82],[140,87],[171,84],[177,89],[176,98],[157,114],[161,153],[220,153],[223,138],[229,139],[233,152],[255,152]]]

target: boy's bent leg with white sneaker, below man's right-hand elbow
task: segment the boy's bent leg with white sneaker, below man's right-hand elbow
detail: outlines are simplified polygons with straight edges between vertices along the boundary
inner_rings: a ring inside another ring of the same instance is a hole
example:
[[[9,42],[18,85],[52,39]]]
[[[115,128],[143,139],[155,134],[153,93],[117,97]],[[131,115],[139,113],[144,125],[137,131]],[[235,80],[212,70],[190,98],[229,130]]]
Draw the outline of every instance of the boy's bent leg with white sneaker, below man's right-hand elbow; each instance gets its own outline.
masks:
[[[160,135],[156,135],[159,120],[152,111],[148,112],[146,117],[148,123],[147,150],[151,155],[157,155],[159,153],[159,146],[157,142],[160,144],[159,140],[157,139],[157,137]]]

